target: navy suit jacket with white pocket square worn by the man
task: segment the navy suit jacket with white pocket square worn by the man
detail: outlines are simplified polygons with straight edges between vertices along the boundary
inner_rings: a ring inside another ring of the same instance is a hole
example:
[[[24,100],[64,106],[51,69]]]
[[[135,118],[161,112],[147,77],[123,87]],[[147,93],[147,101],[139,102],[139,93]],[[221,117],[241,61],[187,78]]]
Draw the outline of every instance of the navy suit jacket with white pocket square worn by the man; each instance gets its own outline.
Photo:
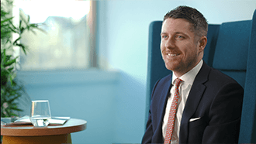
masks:
[[[152,91],[147,130],[142,143],[163,143],[162,122],[172,74]],[[180,125],[180,143],[237,143],[244,89],[231,77],[202,64],[192,84]],[[189,122],[191,118],[199,118]]]

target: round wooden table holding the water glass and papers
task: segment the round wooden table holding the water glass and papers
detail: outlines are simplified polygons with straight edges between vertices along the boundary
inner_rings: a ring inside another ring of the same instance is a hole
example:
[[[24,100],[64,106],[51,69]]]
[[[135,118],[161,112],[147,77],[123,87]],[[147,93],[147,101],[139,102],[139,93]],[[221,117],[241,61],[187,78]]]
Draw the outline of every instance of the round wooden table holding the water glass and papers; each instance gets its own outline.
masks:
[[[48,125],[47,127],[34,127],[33,125],[1,126],[2,144],[58,144],[72,143],[71,132],[86,129],[85,120],[71,118],[64,125]]]

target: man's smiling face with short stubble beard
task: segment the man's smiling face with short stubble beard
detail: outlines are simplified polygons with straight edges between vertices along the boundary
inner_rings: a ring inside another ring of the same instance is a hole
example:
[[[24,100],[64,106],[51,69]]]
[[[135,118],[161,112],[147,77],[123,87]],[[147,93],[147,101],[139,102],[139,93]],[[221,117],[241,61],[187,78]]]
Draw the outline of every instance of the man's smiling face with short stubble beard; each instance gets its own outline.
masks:
[[[171,18],[165,19],[162,25],[161,55],[165,67],[177,77],[191,70],[202,59],[204,46],[199,43],[199,38],[195,39],[190,26],[185,19]]]

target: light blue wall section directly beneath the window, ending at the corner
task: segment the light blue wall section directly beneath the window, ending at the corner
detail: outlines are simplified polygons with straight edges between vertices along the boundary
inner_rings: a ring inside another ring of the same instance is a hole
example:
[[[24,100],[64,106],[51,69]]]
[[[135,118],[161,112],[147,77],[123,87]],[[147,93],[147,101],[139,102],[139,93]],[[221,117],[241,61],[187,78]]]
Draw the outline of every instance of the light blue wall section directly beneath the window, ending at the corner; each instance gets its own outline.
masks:
[[[118,71],[19,72],[18,77],[31,100],[49,100],[52,116],[70,116],[88,122],[85,131],[71,134],[74,144],[112,142]]]

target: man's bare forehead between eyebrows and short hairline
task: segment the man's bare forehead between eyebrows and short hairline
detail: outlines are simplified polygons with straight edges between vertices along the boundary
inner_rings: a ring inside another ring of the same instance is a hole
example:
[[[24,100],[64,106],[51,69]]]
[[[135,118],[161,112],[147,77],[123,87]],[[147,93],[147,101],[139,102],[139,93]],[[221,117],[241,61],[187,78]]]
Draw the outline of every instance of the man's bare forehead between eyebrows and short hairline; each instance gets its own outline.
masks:
[[[185,33],[194,35],[192,32],[192,24],[185,19],[165,19],[162,24],[161,33]]]

